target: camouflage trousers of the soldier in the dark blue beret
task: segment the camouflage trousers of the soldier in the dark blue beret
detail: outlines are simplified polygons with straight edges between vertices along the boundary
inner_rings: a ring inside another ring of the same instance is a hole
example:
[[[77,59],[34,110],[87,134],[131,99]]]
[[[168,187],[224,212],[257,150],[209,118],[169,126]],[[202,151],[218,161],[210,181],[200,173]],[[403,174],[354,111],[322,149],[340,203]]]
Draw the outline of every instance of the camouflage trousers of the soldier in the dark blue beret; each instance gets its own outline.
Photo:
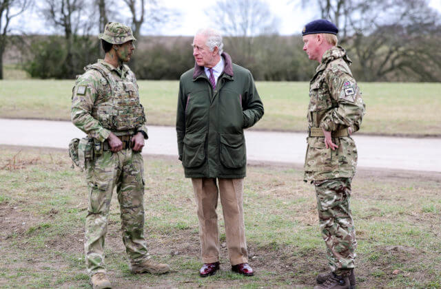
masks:
[[[353,227],[349,197],[351,179],[337,178],[314,181],[318,220],[326,244],[331,270],[344,275],[355,267],[356,231]]]

